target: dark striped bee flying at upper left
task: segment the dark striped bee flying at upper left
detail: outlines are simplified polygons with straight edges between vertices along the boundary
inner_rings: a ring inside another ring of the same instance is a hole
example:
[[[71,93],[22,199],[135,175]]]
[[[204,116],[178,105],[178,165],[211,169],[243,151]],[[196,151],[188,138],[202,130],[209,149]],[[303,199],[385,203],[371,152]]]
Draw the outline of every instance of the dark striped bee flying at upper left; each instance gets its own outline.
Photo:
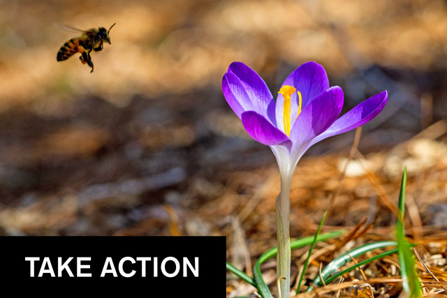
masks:
[[[82,33],[81,36],[71,38],[64,45],[61,46],[59,52],[57,52],[57,61],[64,61],[73,54],[80,53],[80,61],[82,64],[87,64],[91,67],[90,73],[93,73],[93,61],[91,61],[90,53],[91,51],[99,52],[103,50],[103,42],[107,41],[110,43],[110,29],[115,26],[116,23],[112,24],[112,26],[106,30],[104,27],[99,27],[98,29],[93,28],[89,30],[79,30],[72,27],[68,27],[61,24],[55,24],[56,27],[59,27],[64,30]]]

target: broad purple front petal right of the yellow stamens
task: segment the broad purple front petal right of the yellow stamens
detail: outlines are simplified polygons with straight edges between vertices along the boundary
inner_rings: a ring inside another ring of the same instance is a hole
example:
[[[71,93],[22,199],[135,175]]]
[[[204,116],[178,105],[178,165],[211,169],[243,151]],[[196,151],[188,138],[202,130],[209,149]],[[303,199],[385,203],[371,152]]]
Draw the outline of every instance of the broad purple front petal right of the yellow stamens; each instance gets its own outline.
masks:
[[[338,86],[314,98],[293,125],[290,139],[294,147],[301,147],[328,129],[342,111],[343,100],[343,90]]]

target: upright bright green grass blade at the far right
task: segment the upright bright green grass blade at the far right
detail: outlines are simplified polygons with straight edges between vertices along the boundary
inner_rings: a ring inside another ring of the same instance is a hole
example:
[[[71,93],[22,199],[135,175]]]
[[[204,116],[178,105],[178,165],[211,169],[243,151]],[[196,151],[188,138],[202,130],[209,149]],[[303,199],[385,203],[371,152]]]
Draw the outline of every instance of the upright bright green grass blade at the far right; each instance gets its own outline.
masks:
[[[410,298],[422,297],[422,290],[414,256],[411,251],[411,244],[405,239],[405,186],[406,186],[406,167],[402,175],[402,184],[400,186],[399,195],[399,218],[397,218],[396,238],[397,238],[397,253],[399,256],[399,265],[402,275],[402,286],[406,295]]]

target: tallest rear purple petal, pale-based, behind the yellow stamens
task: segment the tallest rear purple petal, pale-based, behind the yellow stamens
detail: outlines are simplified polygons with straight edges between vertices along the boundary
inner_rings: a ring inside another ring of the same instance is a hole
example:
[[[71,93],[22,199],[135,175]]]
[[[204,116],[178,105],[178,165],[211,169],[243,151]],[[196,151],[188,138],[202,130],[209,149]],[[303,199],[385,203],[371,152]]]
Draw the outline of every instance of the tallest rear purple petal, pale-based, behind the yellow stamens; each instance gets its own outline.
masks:
[[[314,61],[310,61],[293,70],[293,73],[286,78],[281,86],[284,85],[293,86],[297,91],[300,91],[302,96],[302,109],[304,109],[316,96],[329,88],[329,80],[323,66]],[[282,120],[283,106],[284,97],[282,94],[278,94],[276,109],[277,126],[284,131]],[[295,115],[295,117],[298,114],[298,94],[296,93],[291,96],[291,114]],[[291,126],[293,126],[295,117],[292,117]]]

